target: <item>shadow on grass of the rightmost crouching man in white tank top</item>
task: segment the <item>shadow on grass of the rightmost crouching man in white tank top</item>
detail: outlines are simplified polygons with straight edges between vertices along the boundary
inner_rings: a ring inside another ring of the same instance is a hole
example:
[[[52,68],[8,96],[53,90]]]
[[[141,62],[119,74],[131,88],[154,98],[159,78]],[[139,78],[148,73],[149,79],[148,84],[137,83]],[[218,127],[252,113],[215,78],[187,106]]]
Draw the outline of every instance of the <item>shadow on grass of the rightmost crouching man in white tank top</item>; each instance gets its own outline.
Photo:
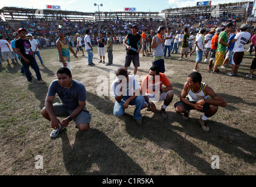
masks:
[[[208,134],[194,132],[196,131],[194,128],[200,128],[198,125],[198,119],[191,118],[187,122],[180,122],[180,124],[183,126],[183,128],[176,126],[174,129],[183,131],[191,137],[198,138],[202,141],[207,141],[208,144],[223,150],[224,153],[234,155],[235,157],[240,158],[241,160],[250,164],[255,164],[255,137],[249,136],[241,130],[227,126],[226,124],[214,122],[210,119],[208,120],[210,133]],[[191,124],[197,124],[197,127],[192,128]],[[223,160],[224,159],[225,158],[223,158]]]

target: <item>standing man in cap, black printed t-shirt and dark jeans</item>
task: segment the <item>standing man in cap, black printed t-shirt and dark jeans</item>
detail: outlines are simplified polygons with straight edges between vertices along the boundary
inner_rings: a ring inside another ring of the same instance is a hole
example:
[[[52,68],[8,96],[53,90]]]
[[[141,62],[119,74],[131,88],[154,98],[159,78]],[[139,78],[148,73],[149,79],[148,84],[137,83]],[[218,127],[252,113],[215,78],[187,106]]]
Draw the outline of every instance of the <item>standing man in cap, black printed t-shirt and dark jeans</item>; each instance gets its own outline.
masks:
[[[28,39],[26,39],[26,29],[18,29],[19,39],[15,41],[16,53],[21,57],[21,63],[24,68],[26,79],[29,84],[33,84],[31,74],[29,73],[29,66],[35,71],[36,78],[39,83],[45,83],[41,77],[41,73],[36,63],[35,56],[32,53],[31,44]]]

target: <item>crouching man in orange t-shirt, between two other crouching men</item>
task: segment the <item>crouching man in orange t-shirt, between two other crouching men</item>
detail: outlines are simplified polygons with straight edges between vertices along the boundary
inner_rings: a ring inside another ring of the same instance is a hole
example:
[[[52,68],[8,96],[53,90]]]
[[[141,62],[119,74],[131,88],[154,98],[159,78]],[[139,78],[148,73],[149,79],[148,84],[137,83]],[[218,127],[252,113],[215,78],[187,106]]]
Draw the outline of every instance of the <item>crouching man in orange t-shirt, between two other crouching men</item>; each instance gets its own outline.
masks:
[[[162,85],[166,86],[165,88]],[[161,106],[161,116],[167,119],[166,113],[167,106],[173,101],[173,86],[169,79],[163,73],[159,72],[159,67],[153,65],[149,70],[149,75],[142,79],[140,92],[145,98],[145,103],[148,110],[156,112],[156,105],[154,102],[164,101]]]

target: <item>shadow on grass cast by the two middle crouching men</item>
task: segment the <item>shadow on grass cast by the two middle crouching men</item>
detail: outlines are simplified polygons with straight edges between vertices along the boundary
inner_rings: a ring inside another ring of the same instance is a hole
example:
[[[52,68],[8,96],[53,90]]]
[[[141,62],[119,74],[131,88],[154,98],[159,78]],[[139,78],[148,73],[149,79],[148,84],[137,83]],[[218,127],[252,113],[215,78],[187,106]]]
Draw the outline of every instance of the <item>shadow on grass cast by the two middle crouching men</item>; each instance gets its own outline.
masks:
[[[209,162],[197,156],[197,154],[203,154],[203,151],[174,131],[174,127],[170,125],[170,122],[173,122],[171,116],[174,115],[174,112],[167,113],[169,114],[169,119],[167,120],[155,120],[154,116],[157,114],[152,118],[144,116],[142,126],[131,123],[133,116],[126,114],[123,117],[126,123],[126,131],[134,138],[141,139],[142,137],[146,137],[165,150],[175,151],[179,157],[183,158],[184,162],[196,167],[206,175],[225,175],[224,171],[221,169],[212,169]]]

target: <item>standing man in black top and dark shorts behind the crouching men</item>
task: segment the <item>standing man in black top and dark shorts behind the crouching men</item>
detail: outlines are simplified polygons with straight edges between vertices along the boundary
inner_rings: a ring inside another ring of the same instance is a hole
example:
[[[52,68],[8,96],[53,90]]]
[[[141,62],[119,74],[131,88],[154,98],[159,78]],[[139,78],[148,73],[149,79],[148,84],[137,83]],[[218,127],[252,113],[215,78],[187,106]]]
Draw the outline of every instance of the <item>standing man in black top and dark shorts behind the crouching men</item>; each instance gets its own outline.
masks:
[[[127,34],[123,41],[123,45],[126,46],[124,69],[127,71],[128,67],[130,67],[131,62],[133,61],[133,76],[135,76],[138,67],[140,66],[139,53],[142,49],[142,36],[137,33],[137,25],[133,25],[130,28],[132,29],[132,33]]]

